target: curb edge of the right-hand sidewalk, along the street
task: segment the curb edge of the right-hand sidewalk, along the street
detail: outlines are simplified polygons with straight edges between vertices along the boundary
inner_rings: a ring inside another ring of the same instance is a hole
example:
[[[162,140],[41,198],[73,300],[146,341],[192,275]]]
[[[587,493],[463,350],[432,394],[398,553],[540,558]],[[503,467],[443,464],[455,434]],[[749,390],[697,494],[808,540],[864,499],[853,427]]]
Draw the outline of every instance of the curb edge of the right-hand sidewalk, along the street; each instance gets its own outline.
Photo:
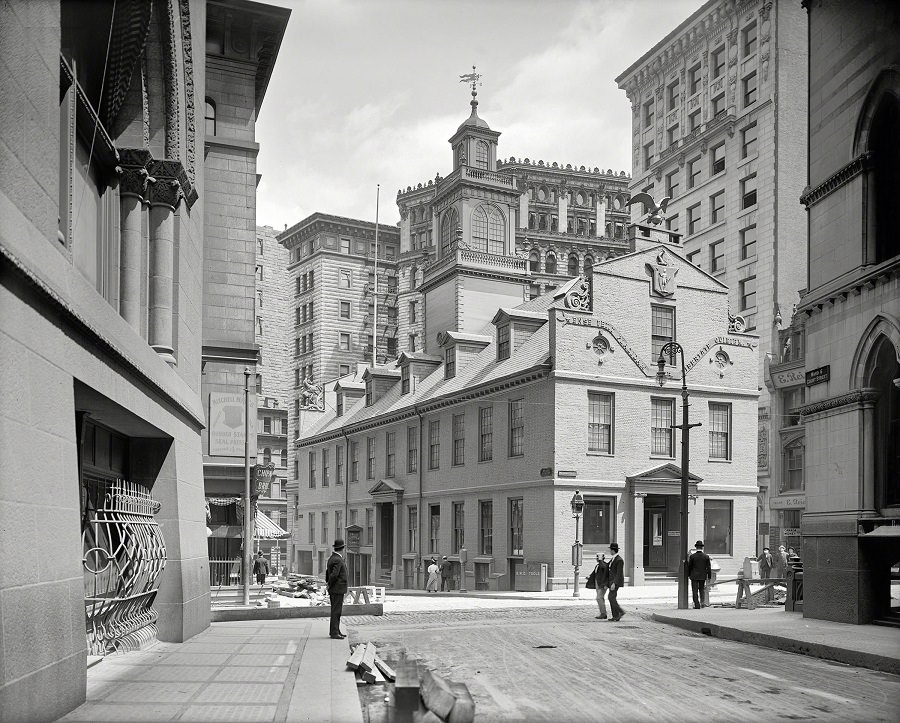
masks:
[[[708,623],[702,620],[687,620],[685,618],[670,617],[660,613],[653,613],[650,617],[658,623],[674,625],[685,630],[690,630],[691,632],[710,635],[714,638],[721,638],[722,640],[733,640],[738,643],[759,645],[764,648],[774,648],[775,650],[782,650],[788,653],[808,655],[813,658],[822,658],[824,660],[834,660],[838,663],[853,665],[858,668],[868,668],[869,670],[877,670],[882,673],[900,675],[900,659],[898,658],[889,658],[884,655],[867,653],[862,650],[847,650],[846,648],[838,648],[833,645],[812,643],[805,640],[772,635],[770,633],[741,630],[739,628],[716,625],[715,623]]]

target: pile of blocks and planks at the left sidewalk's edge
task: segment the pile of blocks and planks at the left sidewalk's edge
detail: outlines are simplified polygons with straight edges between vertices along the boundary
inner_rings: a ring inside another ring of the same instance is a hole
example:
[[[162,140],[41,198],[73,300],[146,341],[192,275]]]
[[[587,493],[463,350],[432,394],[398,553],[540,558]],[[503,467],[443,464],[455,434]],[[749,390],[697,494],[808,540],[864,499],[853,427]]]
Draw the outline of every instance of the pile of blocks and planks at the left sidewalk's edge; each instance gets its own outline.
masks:
[[[465,683],[445,680],[415,659],[403,658],[396,670],[385,663],[372,643],[357,645],[347,660],[357,685],[393,683],[384,703],[366,707],[369,723],[415,721],[418,723],[472,723],[475,700]]]

